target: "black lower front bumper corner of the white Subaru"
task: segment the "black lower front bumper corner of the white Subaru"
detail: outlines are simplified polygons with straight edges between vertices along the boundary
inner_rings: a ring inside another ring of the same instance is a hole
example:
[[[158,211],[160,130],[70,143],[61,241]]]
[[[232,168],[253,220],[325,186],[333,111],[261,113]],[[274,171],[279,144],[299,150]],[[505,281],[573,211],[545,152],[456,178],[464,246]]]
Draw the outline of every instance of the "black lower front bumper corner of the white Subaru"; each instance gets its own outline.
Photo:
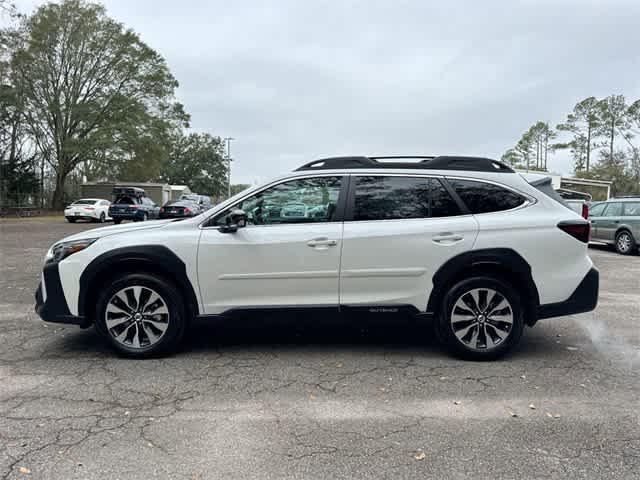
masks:
[[[42,285],[44,282],[44,286]],[[87,328],[91,322],[84,317],[71,315],[60,283],[58,264],[50,263],[44,266],[42,282],[36,290],[36,313],[45,322],[70,323]],[[46,293],[45,293],[46,292]]]

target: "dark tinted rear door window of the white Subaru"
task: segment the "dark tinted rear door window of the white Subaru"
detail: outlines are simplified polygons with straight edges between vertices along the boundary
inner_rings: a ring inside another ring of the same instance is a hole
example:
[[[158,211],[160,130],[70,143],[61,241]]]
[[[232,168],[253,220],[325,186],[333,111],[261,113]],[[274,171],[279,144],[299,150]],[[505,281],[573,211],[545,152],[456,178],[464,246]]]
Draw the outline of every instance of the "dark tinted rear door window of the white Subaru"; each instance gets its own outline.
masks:
[[[392,220],[459,215],[460,210],[436,179],[354,177],[354,220]]]

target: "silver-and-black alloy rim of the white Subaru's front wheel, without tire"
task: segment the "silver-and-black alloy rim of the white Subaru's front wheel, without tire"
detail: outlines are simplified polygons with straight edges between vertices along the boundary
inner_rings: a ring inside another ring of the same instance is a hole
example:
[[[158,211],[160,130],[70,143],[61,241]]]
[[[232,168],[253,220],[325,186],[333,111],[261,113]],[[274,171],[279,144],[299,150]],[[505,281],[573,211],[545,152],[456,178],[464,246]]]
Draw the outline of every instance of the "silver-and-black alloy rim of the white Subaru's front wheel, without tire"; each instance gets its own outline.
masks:
[[[141,285],[116,292],[105,311],[107,331],[129,348],[144,349],[160,341],[169,326],[169,309],[153,289]]]

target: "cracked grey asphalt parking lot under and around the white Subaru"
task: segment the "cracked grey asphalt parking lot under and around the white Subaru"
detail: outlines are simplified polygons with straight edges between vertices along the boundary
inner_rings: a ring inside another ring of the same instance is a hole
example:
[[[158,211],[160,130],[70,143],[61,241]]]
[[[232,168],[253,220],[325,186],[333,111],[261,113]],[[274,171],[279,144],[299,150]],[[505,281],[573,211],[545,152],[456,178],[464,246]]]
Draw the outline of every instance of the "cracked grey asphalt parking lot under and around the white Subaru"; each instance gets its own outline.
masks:
[[[295,316],[198,324],[133,361],[33,311],[47,247],[92,227],[0,222],[5,479],[640,478],[638,256],[591,249],[597,310],[499,362],[409,320]]]

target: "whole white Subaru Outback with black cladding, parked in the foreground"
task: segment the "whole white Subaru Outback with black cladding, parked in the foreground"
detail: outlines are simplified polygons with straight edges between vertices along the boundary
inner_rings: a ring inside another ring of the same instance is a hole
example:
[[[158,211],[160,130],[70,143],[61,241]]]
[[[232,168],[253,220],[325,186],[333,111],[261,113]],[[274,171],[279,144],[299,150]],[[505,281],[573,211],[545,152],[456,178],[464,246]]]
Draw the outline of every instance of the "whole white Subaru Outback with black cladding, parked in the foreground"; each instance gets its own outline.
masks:
[[[453,353],[491,359],[525,325],[595,308],[589,228],[548,178],[495,160],[327,158],[191,219],[61,240],[36,311],[95,324],[132,357],[169,352],[195,317],[409,313]]]

